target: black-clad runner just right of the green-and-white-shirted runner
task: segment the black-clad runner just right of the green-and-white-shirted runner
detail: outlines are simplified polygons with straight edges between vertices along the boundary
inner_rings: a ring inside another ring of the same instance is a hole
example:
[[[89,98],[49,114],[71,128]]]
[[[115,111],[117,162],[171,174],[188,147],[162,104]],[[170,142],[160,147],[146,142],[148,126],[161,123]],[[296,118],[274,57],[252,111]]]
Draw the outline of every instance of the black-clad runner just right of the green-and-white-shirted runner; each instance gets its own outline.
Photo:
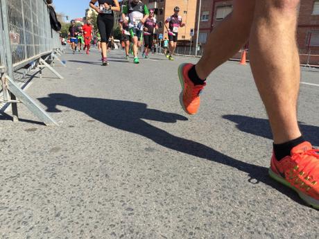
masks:
[[[148,53],[152,50],[154,31],[157,29],[156,19],[154,18],[154,10],[150,10],[150,16],[146,19],[144,24],[144,52],[145,58],[148,58]]]

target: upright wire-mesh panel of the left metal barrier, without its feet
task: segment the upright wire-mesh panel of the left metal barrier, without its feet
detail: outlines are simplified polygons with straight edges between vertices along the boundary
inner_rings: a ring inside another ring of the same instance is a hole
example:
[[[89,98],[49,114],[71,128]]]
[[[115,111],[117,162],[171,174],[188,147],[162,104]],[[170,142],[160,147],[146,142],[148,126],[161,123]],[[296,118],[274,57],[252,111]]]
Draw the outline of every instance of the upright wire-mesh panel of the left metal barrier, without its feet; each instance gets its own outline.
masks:
[[[44,0],[6,0],[12,64],[17,65],[59,47]],[[1,16],[2,17],[2,16]],[[3,34],[1,34],[1,37]],[[0,39],[1,41],[1,39]],[[3,51],[0,67],[3,65]]]

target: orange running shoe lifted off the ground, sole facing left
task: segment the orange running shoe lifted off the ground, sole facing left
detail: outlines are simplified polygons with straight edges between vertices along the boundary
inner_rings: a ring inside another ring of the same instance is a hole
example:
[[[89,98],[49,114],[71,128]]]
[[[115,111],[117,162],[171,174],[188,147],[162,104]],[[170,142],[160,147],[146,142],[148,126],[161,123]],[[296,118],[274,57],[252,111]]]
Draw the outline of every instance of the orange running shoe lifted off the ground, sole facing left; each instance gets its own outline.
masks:
[[[178,77],[180,78],[180,85],[182,92],[180,93],[180,105],[187,114],[196,114],[200,106],[200,92],[205,87],[204,85],[194,85],[189,79],[189,69],[193,64],[181,64],[178,67]]]

